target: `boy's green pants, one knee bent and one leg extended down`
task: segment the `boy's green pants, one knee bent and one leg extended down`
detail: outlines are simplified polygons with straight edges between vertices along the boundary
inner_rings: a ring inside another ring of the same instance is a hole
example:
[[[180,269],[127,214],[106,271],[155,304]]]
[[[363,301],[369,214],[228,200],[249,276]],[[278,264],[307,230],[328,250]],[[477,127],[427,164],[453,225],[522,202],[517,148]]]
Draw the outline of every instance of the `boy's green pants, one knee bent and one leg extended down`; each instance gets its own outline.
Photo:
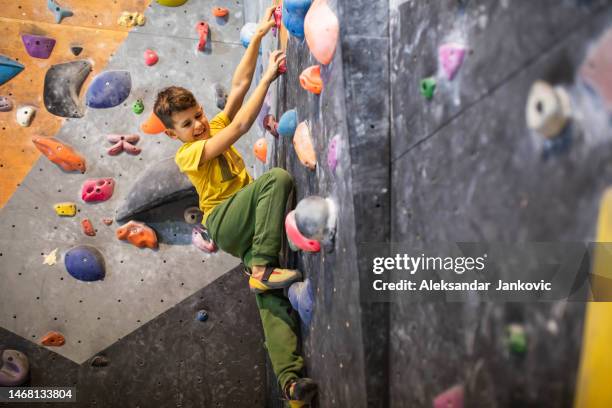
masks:
[[[217,205],[206,227],[217,246],[247,266],[278,266],[285,206],[293,180],[289,173],[273,168]],[[282,291],[256,295],[266,348],[281,386],[302,374],[298,321]]]

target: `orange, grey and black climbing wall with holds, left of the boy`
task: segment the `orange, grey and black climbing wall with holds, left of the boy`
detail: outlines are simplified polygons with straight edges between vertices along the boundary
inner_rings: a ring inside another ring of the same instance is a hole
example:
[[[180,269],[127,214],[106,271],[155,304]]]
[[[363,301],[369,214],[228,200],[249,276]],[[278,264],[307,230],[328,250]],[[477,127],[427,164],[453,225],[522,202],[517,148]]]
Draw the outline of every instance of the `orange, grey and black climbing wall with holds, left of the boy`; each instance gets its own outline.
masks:
[[[0,112],[0,349],[28,356],[30,385],[76,386],[83,406],[262,400],[265,350],[239,260],[192,245],[197,197],[167,165],[179,142],[141,128],[170,85],[209,118],[220,111],[244,52],[243,5],[216,17],[209,0],[40,3],[0,12],[0,73],[23,66],[0,85],[12,105]],[[255,175],[261,133],[237,143]],[[120,228],[128,220],[157,243]],[[143,382],[121,380],[130,371]]]

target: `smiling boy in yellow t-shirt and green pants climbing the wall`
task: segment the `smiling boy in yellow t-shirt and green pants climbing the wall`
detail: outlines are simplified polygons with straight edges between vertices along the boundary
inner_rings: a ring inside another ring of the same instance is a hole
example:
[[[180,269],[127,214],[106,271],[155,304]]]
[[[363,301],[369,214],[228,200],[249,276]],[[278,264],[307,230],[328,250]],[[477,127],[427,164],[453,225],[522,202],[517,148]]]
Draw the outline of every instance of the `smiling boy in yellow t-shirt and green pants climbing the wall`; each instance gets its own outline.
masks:
[[[274,168],[253,180],[233,144],[255,121],[268,88],[279,76],[282,51],[270,54],[268,67],[252,95],[251,86],[262,38],[274,27],[275,6],[266,10],[232,78],[222,112],[208,121],[191,92],[169,87],[157,95],[154,112],[165,133],[183,144],[175,162],[199,196],[202,223],[225,252],[242,259],[256,293],[268,354],[290,406],[308,404],[316,384],[302,378],[298,321],[282,289],[302,278],[297,270],[279,268],[285,207],[293,189],[291,176]]]

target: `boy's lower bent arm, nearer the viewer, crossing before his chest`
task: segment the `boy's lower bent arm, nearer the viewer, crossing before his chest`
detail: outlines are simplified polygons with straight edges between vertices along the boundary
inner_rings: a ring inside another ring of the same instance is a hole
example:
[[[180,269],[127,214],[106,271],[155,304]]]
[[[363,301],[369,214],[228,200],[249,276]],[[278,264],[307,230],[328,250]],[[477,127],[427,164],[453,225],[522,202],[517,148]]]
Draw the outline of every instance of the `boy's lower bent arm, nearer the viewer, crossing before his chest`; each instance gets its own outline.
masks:
[[[276,50],[270,53],[268,68],[246,104],[240,108],[234,120],[227,127],[206,141],[204,152],[200,157],[200,165],[229,149],[240,136],[249,131],[261,110],[268,87],[278,78],[278,67],[284,60],[284,52]]]

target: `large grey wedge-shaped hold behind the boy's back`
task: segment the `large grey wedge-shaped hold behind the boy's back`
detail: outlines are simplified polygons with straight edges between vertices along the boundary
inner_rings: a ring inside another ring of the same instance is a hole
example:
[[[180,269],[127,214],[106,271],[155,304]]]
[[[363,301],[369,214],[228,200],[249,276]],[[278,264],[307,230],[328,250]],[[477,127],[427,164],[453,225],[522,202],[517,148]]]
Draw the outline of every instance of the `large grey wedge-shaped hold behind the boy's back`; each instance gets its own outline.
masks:
[[[186,175],[174,163],[174,157],[152,163],[140,172],[127,196],[117,209],[117,220],[123,221],[143,211],[195,194]]]

